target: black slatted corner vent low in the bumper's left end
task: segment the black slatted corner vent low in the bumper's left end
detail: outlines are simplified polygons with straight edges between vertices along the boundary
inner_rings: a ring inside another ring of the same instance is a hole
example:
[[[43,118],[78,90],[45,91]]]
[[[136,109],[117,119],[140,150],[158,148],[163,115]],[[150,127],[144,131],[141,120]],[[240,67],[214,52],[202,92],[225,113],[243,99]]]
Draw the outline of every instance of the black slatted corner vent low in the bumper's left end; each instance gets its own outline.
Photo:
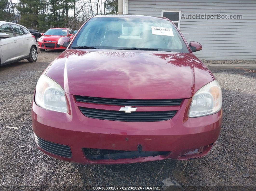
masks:
[[[60,145],[57,143],[52,143],[50,141],[41,139],[40,137],[36,136],[35,133],[34,135],[35,135],[36,144],[39,148],[47,152],[50,152],[51,154],[58,155],[61,157],[67,157],[67,158],[72,157],[71,150],[68,145]]]

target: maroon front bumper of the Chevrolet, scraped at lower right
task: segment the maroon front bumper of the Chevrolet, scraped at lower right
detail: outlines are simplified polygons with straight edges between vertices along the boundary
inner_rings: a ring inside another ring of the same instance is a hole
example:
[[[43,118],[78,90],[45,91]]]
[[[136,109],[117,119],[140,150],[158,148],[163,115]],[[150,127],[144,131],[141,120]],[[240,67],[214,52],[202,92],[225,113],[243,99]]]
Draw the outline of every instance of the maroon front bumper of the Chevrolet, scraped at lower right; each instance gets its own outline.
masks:
[[[191,99],[184,99],[180,106],[154,107],[154,110],[178,110],[167,121],[122,122],[85,117],[78,106],[95,109],[119,110],[120,106],[106,106],[76,102],[66,94],[68,113],[50,111],[32,104],[32,125],[35,135],[48,142],[70,147],[71,157],[61,157],[39,148],[54,158],[81,163],[133,163],[161,159],[188,160],[206,155],[220,134],[222,110],[218,113],[187,118]],[[137,111],[152,110],[138,107]],[[169,151],[168,154],[125,159],[91,160],[84,148],[137,151]]]

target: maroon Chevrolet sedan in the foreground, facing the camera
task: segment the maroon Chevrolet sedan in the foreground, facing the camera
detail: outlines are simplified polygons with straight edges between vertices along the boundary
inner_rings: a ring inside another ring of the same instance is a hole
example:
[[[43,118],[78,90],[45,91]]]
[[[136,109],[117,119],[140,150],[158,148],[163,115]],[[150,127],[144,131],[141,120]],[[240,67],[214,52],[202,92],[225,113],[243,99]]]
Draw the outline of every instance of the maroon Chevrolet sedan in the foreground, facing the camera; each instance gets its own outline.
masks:
[[[38,148],[81,164],[206,155],[222,122],[221,88],[167,18],[101,15],[87,20],[37,82]]]

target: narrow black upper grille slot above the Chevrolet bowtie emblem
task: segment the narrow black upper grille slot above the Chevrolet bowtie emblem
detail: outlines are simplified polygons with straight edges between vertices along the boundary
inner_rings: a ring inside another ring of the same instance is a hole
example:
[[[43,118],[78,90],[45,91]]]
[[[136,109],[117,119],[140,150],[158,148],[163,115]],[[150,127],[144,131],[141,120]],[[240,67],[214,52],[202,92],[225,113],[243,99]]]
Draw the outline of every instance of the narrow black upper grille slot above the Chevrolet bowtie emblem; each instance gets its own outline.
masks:
[[[115,99],[76,96],[77,101],[104,104],[104,105],[119,105],[119,106],[178,106],[182,99]]]

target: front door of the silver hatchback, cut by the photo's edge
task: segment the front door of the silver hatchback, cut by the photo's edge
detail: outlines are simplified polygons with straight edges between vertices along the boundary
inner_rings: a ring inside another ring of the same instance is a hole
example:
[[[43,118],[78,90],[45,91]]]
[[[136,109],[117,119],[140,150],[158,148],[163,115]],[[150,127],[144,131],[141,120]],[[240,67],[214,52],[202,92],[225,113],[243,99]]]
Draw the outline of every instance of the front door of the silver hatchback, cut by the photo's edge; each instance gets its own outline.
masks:
[[[0,39],[1,63],[3,64],[19,59],[21,57],[18,45],[19,37],[15,36],[10,24],[3,24],[0,26],[0,32],[9,34],[9,38]]]

